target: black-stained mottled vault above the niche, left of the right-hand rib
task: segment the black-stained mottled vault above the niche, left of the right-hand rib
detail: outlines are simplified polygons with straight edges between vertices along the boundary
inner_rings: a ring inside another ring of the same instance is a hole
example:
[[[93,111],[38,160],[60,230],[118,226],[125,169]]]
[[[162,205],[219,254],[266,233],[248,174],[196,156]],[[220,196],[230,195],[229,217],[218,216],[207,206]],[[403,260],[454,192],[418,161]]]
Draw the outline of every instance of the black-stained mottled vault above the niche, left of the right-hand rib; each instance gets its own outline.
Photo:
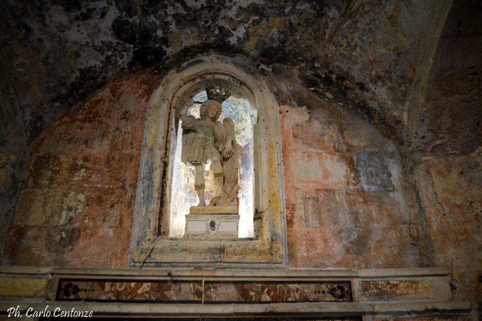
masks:
[[[125,71],[209,48],[296,66],[346,91],[398,136],[419,67],[450,1],[105,0],[18,2],[0,44],[30,140]]]

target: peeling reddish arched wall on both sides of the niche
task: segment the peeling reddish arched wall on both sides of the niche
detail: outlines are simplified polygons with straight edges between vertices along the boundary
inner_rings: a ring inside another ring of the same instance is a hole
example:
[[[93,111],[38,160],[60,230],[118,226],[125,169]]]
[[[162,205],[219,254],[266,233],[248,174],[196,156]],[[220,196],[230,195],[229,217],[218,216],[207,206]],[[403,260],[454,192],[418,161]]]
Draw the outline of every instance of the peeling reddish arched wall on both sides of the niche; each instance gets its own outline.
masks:
[[[266,76],[281,105],[290,266],[417,266],[397,145],[347,99],[313,93],[297,70],[276,65]],[[145,108],[158,79],[151,69],[117,81],[41,136],[4,264],[126,266]]]

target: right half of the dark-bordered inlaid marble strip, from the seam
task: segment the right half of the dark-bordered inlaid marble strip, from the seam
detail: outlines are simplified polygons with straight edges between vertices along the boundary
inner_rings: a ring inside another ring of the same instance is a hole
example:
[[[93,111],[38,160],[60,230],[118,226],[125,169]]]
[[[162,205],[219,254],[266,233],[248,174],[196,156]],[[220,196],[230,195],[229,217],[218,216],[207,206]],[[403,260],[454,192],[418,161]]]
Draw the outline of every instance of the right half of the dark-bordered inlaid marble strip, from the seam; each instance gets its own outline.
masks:
[[[350,281],[205,281],[205,303],[352,302]]]

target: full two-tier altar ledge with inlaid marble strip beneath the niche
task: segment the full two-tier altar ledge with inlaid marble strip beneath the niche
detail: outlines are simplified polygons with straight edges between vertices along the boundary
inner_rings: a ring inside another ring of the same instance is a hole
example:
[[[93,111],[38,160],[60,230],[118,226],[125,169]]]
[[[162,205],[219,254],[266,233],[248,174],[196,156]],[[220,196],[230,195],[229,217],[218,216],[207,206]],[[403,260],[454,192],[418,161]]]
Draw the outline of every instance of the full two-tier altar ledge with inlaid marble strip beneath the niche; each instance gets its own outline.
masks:
[[[477,320],[446,269],[94,269],[0,267],[0,311],[89,310],[92,319]],[[25,292],[32,278],[44,291]],[[19,282],[12,283],[12,279]],[[9,283],[10,282],[10,283]],[[32,296],[33,295],[33,296]],[[4,314],[5,315],[5,314]],[[25,314],[24,314],[25,315]],[[47,318],[43,318],[46,320]]]

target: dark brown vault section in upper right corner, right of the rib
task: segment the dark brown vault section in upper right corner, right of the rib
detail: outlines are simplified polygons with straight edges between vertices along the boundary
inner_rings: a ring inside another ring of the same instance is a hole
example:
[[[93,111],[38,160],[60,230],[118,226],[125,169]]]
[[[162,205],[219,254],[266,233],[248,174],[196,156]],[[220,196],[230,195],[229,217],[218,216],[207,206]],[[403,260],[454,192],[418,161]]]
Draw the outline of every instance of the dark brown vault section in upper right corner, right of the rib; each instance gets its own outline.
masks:
[[[457,2],[440,36],[414,151],[469,154],[482,145],[482,4]]]

